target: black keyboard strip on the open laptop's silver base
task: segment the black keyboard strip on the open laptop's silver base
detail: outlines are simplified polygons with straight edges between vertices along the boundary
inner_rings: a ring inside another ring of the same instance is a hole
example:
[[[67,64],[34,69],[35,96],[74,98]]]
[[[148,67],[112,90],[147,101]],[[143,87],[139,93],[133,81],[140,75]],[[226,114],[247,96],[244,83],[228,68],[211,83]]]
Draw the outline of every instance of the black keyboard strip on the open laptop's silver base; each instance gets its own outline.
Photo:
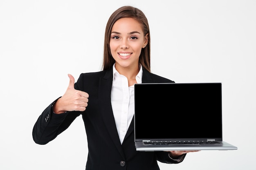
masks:
[[[221,144],[219,141],[144,141],[144,145],[195,145],[195,144]]]

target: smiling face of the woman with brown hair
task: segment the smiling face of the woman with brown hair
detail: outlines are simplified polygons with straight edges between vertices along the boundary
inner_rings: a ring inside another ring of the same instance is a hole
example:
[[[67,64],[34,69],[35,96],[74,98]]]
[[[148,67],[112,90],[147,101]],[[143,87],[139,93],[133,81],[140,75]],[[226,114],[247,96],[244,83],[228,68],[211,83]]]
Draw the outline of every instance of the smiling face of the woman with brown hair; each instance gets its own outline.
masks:
[[[110,35],[110,51],[118,69],[138,68],[141,49],[147,44],[141,24],[133,18],[115,22]]]

